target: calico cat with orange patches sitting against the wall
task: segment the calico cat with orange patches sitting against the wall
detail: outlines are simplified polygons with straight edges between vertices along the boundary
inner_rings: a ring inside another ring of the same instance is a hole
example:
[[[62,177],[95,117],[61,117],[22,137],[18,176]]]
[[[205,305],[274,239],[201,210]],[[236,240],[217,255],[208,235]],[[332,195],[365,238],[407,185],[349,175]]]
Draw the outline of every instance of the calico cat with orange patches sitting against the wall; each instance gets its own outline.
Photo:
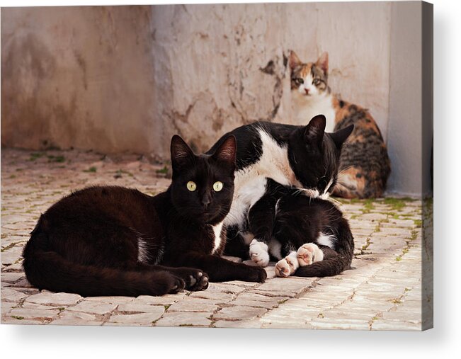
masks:
[[[334,96],[328,86],[328,53],[317,62],[302,62],[290,52],[292,105],[298,121],[323,113],[326,130],[355,129],[341,154],[338,183],[333,195],[343,198],[382,196],[390,161],[380,129],[368,110]]]

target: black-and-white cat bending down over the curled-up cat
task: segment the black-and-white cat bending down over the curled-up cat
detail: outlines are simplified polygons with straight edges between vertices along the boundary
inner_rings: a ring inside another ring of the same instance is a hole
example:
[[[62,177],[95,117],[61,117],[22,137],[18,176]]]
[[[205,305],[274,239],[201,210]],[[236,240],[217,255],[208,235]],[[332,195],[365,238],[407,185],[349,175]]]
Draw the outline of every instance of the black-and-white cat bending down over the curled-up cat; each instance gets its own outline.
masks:
[[[224,219],[229,232],[224,253],[246,258],[249,250],[258,266],[267,266],[270,237],[249,232],[248,214],[266,194],[268,178],[283,186],[305,188],[312,197],[328,197],[335,185],[341,146],[353,125],[334,133],[326,133],[325,126],[324,115],[315,116],[306,126],[254,122],[227,133],[210,149],[215,151],[229,135],[237,139],[234,199]],[[259,211],[270,222],[272,210],[261,205]]]

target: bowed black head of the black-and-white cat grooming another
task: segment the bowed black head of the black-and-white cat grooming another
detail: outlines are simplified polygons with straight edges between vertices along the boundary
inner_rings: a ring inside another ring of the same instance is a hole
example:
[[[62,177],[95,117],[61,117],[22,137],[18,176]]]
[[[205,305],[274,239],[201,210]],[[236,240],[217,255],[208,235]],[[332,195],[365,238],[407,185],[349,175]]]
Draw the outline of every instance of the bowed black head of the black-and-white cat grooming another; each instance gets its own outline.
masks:
[[[325,132],[326,118],[317,115],[305,127],[295,130],[288,142],[288,159],[302,187],[314,197],[326,197],[336,184],[341,147],[353,125]]]

